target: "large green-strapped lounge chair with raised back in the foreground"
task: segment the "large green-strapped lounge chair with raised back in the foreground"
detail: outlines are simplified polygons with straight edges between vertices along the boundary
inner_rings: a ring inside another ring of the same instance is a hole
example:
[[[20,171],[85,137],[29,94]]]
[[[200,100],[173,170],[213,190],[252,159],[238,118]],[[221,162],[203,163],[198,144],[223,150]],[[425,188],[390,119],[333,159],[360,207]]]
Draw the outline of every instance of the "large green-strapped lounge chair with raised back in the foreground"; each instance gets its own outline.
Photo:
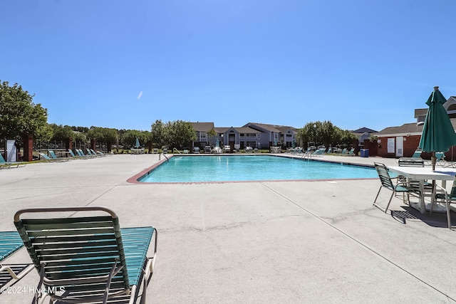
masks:
[[[157,253],[154,227],[120,229],[118,216],[102,206],[19,210],[14,224],[40,275],[36,290],[46,290],[36,301],[145,303]]]

